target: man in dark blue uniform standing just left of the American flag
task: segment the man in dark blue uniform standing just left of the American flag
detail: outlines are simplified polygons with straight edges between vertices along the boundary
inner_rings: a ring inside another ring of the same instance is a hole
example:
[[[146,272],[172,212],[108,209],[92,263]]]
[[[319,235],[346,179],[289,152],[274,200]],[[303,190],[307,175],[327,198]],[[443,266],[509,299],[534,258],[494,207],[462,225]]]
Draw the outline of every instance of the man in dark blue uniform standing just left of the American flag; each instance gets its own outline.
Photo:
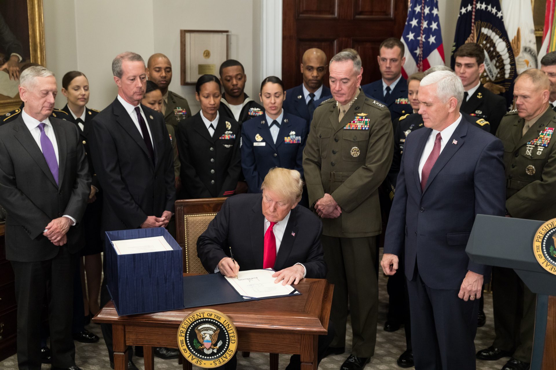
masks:
[[[405,63],[404,50],[400,39],[385,39],[380,44],[379,55],[376,57],[382,78],[361,87],[369,98],[386,104],[392,115],[394,129],[401,116],[413,112],[408,99],[408,82],[401,75],[401,67]]]

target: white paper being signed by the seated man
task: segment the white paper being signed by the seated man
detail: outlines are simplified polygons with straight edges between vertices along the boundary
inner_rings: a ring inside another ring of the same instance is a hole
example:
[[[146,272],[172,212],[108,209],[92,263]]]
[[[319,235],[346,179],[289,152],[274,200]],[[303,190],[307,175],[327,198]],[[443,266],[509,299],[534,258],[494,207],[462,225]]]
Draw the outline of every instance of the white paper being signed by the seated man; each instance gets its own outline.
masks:
[[[244,298],[285,296],[295,291],[291,285],[275,283],[274,270],[240,271],[237,277],[226,277],[228,282]]]

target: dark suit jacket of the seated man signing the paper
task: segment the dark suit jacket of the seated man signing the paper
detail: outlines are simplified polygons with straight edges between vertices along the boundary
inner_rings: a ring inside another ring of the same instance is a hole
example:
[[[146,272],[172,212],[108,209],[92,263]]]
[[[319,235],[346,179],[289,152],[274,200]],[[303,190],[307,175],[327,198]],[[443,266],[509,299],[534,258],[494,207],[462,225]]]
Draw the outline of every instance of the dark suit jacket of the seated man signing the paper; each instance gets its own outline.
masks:
[[[214,272],[218,262],[229,257],[231,247],[241,270],[262,268],[264,225],[262,194],[239,194],[226,199],[207,230],[197,239],[197,255],[203,267]],[[274,270],[303,263],[307,270],[305,277],[325,278],[327,268],[320,244],[321,233],[318,217],[297,205],[287,221]]]

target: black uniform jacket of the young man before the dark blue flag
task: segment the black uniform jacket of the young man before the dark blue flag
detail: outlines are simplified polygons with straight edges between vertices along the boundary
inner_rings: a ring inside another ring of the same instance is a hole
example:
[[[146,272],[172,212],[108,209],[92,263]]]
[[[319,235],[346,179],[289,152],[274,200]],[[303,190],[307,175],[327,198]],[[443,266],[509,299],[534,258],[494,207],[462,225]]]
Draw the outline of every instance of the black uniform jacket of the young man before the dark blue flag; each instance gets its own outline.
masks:
[[[490,132],[494,135],[502,121],[502,117],[507,113],[506,99],[502,95],[497,95],[486,89],[481,84],[466,102],[461,103],[460,111],[470,114],[476,119],[483,118],[490,123]]]

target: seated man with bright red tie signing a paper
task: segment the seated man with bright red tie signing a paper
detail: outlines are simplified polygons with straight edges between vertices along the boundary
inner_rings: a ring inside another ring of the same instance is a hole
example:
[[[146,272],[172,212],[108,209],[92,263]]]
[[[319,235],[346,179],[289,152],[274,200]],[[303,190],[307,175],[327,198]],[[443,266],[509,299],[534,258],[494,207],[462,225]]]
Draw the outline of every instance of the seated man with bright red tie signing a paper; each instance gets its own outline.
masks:
[[[234,277],[240,270],[274,268],[276,283],[297,284],[302,278],[325,278],[320,220],[301,199],[303,180],[296,170],[274,168],[265,176],[262,194],[240,194],[222,209],[197,240],[197,255],[210,273]],[[234,260],[232,260],[233,254]],[[319,337],[319,356],[330,344],[332,330]],[[299,369],[299,355],[288,370]],[[235,357],[226,369],[235,368]]]

